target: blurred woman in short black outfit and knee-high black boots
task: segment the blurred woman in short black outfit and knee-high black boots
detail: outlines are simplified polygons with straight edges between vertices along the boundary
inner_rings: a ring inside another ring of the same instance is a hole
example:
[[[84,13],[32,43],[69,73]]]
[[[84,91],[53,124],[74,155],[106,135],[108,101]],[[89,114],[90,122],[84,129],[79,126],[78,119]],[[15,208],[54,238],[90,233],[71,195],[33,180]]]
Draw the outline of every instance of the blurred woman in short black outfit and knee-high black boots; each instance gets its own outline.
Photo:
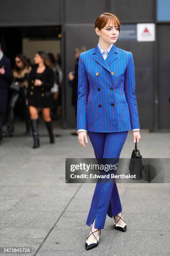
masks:
[[[50,117],[50,107],[52,107],[51,87],[54,84],[54,72],[49,65],[48,56],[44,51],[38,51],[35,54],[35,66],[30,72],[30,81],[28,87],[28,106],[30,110],[32,136],[34,145],[32,148],[40,146],[38,135],[38,108],[42,108],[42,116],[50,137],[50,143],[55,143],[52,120]]]

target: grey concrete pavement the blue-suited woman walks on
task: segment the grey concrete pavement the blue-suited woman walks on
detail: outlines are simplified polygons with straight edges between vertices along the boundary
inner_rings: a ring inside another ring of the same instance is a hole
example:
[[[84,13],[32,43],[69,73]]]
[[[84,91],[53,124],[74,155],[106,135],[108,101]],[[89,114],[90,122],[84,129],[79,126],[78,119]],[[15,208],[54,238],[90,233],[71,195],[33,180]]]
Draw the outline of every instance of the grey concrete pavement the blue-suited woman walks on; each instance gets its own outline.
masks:
[[[0,146],[0,247],[31,247],[28,256],[168,256],[170,255],[170,184],[117,184],[127,232],[113,228],[107,216],[99,245],[85,249],[86,225],[95,184],[65,184],[65,158],[93,158],[89,143],[80,146],[74,130],[55,128],[50,144],[45,126],[40,148],[31,136],[4,138]],[[24,129],[23,129],[24,131]],[[170,158],[170,133],[140,131],[143,158]],[[132,132],[120,157],[133,150]]]

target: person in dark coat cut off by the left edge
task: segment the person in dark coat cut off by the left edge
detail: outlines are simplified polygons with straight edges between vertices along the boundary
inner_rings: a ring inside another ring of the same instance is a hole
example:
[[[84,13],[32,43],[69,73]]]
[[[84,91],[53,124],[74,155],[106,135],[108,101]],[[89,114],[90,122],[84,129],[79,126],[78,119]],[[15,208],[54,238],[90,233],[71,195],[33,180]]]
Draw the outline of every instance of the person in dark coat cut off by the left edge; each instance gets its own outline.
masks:
[[[2,114],[7,110],[9,84],[12,79],[10,59],[4,56],[0,43],[0,144],[2,141]]]

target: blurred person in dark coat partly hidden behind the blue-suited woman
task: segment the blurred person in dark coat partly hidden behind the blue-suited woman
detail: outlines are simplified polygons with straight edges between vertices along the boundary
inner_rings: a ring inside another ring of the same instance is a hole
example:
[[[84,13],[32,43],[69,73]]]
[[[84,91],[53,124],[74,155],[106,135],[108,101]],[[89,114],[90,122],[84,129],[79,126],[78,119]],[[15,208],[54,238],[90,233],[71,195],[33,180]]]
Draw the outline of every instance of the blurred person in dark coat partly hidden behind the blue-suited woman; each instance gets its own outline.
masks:
[[[75,109],[75,120],[77,122],[77,91],[78,91],[78,62],[79,62],[79,57],[80,53],[86,51],[85,46],[77,47],[75,48],[75,69],[74,72],[69,72],[68,73],[68,79],[69,79],[69,85],[72,87],[72,99],[71,99],[71,104],[74,106]],[[71,133],[72,135],[78,135],[78,132],[76,131],[75,133]]]

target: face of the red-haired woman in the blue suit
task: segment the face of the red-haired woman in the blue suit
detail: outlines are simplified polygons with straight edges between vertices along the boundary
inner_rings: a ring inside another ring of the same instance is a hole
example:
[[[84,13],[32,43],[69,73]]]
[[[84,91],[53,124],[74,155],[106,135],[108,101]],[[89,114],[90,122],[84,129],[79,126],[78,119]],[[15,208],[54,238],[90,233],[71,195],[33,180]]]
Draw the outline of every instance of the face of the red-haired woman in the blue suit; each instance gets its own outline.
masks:
[[[108,22],[106,26],[100,30],[98,28],[95,28],[95,31],[99,36],[99,39],[106,44],[115,44],[119,36],[118,26],[115,26],[113,22]]]

